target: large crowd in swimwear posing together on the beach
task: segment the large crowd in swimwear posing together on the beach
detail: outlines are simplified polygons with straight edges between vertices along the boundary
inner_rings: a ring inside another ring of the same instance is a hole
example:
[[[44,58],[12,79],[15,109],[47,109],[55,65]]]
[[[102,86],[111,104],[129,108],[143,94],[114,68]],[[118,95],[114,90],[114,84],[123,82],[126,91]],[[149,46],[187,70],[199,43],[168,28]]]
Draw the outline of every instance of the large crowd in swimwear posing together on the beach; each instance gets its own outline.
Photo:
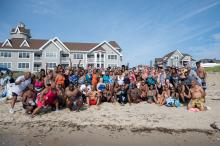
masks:
[[[197,108],[205,110],[206,72],[196,63],[176,68],[162,66],[138,66],[129,69],[126,66],[86,69],[82,67],[56,66],[53,70],[41,69],[39,72],[25,72],[16,80],[13,73],[0,76],[0,97],[11,90],[10,113],[21,97],[22,106],[32,117],[45,108],[58,111],[69,108],[79,111],[83,106],[100,105],[103,102],[137,104],[155,103],[160,106]]]

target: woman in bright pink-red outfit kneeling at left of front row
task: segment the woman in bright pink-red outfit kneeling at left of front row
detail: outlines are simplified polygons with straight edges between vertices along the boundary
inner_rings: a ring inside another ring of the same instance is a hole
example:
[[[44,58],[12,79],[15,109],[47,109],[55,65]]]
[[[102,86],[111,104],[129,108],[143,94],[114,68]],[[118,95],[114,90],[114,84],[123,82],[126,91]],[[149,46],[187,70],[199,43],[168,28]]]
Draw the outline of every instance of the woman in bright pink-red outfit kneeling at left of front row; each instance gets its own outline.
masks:
[[[32,117],[40,112],[43,107],[56,107],[58,111],[59,103],[57,100],[57,88],[55,82],[51,82],[50,86],[47,86],[38,96],[37,96],[37,108],[33,111]]]

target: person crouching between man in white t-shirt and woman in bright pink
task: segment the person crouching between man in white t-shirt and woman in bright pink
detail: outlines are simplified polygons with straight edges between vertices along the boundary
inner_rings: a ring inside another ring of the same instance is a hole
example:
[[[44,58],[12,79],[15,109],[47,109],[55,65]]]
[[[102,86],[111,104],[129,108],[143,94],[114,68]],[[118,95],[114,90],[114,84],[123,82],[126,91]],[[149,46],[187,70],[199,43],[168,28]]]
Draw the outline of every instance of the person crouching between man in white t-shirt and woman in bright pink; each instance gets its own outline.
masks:
[[[28,85],[28,90],[22,95],[22,105],[27,114],[31,114],[36,108],[35,95],[34,85]]]

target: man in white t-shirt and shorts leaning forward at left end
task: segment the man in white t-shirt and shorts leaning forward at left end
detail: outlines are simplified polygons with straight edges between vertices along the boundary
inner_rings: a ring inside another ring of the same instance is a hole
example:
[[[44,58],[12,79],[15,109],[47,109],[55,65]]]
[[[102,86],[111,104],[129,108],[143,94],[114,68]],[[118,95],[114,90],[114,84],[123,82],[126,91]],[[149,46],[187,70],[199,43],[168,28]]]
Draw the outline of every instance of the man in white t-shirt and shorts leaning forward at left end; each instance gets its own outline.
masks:
[[[14,113],[14,106],[17,101],[17,97],[22,95],[28,85],[31,84],[31,73],[25,72],[23,76],[20,76],[15,81],[15,86],[12,88],[12,102],[10,113]]]

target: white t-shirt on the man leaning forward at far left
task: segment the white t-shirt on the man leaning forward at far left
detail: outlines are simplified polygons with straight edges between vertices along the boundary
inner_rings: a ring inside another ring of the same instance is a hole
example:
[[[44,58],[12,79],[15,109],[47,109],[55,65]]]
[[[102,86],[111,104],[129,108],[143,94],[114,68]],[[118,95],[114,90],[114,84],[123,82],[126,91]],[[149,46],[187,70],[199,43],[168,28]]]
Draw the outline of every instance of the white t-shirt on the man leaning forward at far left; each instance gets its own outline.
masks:
[[[20,76],[16,79],[15,82],[22,81],[19,85],[14,85],[12,88],[12,92],[16,93],[17,95],[20,95],[29,84],[31,84],[31,78],[28,80],[25,80],[24,76]]]

